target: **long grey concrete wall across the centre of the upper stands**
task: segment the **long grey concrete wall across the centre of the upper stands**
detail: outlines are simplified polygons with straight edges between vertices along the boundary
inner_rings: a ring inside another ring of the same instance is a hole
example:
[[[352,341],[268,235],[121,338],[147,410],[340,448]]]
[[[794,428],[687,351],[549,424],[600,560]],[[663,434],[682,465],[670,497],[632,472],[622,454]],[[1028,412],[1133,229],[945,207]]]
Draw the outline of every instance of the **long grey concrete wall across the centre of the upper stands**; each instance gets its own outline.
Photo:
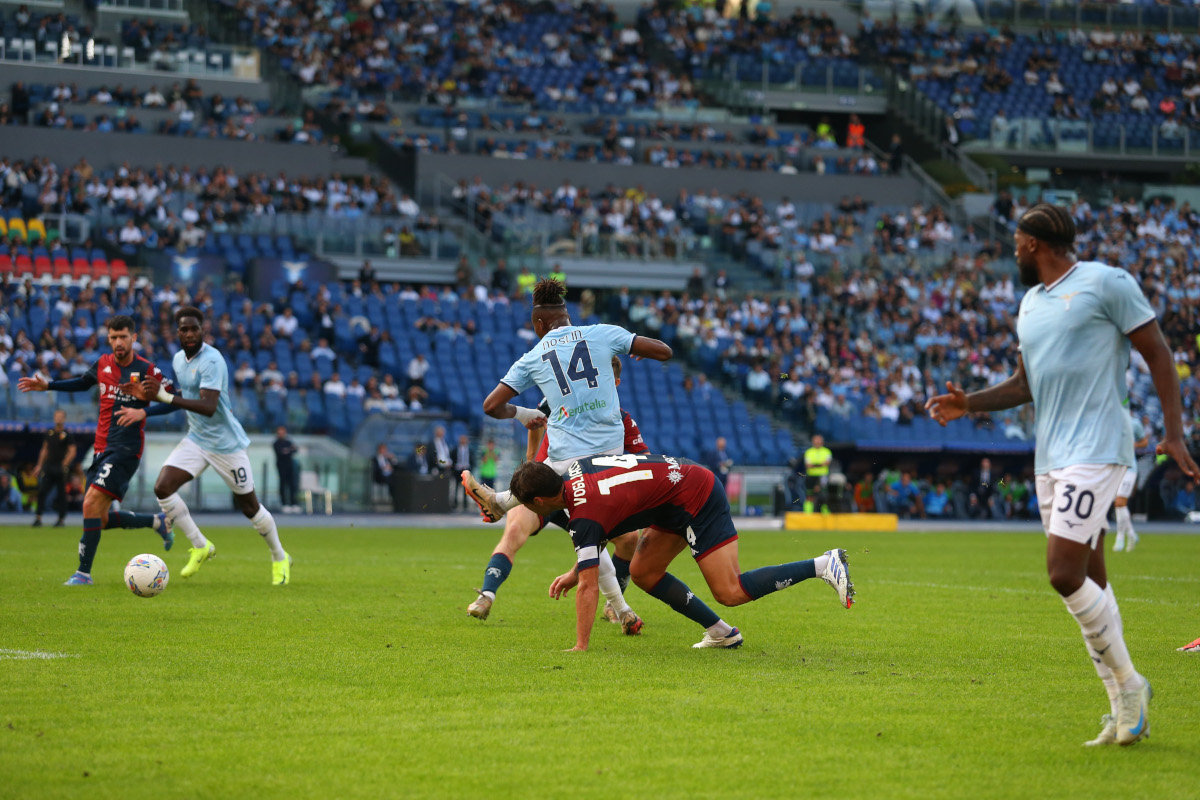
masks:
[[[560,161],[512,161],[488,156],[421,154],[418,176],[421,192],[432,193],[436,176],[454,181],[472,180],[475,175],[488,186],[503,186],[518,180],[545,188],[560,186],[570,179],[576,186],[601,190],[608,184],[642,186],[659,197],[674,197],[679,190],[724,194],[749,191],[770,200],[787,196],[797,203],[830,203],[844,194],[862,194],[876,204],[906,204],[922,196],[920,185],[912,178],[869,175],[780,175],[778,173],[746,173],[734,169],[664,169],[661,167],[613,167]],[[443,187],[444,192],[444,187]],[[424,194],[422,194],[424,197]]]

